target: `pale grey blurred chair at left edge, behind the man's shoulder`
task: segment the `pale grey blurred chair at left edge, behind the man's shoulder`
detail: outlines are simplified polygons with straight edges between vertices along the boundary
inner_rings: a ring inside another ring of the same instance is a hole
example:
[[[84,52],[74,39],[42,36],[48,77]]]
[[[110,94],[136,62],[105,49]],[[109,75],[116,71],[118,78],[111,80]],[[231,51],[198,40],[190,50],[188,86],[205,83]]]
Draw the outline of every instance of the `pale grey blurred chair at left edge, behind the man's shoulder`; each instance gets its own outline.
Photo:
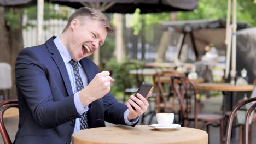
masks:
[[[9,99],[12,87],[10,64],[0,63],[0,81],[0,95],[3,95],[3,99]]]

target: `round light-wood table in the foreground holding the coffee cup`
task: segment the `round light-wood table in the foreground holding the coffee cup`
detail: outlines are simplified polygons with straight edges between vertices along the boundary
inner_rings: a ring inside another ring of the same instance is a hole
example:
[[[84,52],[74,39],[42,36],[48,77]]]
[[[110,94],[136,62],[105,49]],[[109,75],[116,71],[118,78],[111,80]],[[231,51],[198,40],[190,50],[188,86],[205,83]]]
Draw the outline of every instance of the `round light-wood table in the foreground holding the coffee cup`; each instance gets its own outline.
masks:
[[[148,125],[100,127],[77,131],[73,144],[82,143],[179,143],[206,144],[208,134],[200,129],[180,127],[172,131],[158,131]]]

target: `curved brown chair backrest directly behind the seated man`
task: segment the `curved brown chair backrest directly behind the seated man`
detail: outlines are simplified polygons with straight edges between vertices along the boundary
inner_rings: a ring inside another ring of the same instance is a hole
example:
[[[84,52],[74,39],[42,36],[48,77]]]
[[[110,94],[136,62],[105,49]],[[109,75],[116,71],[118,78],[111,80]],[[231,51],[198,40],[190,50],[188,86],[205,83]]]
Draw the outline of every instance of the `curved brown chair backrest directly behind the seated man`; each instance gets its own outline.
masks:
[[[17,99],[9,99],[9,100],[0,101],[0,133],[2,135],[2,138],[3,138],[3,141],[5,144],[11,143],[11,140],[10,140],[10,137],[5,128],[5,125],[3,122],[3,116],[4,116],[4,112],[11,107],[18,108]]]

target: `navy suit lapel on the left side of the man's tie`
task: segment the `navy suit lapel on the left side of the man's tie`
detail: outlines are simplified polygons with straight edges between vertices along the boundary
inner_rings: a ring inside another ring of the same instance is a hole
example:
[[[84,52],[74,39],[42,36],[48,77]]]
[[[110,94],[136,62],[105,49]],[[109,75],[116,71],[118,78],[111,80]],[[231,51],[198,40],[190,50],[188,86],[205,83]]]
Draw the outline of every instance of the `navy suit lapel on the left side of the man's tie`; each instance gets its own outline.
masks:
[[[54,44],[54,41],[53,41],[54,38],[55,37],[51,37],[48,41],[46,41],[45,45],[48,51],[52,54],[51,57],[54,59],[54,62],[56,63],[58,69],[60,70],[68,95],[72,95],[73,91],[72,91],[71,82],[69,80],[69,76],[67,73],[67,68],[65,63],[63,62],[60,52],[58,51],[56,45]]]

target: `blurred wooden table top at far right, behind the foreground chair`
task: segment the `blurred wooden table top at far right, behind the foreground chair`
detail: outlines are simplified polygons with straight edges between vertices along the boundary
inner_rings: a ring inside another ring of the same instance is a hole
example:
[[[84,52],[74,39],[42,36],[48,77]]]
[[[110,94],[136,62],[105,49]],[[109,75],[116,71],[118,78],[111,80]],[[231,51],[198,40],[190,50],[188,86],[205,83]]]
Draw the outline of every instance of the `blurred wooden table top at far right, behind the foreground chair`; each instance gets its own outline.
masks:
[[[196,88],[199,90],[245,92],[253,91],[254,87],[253,85],[236,86],[230,83],[196,83]]]

